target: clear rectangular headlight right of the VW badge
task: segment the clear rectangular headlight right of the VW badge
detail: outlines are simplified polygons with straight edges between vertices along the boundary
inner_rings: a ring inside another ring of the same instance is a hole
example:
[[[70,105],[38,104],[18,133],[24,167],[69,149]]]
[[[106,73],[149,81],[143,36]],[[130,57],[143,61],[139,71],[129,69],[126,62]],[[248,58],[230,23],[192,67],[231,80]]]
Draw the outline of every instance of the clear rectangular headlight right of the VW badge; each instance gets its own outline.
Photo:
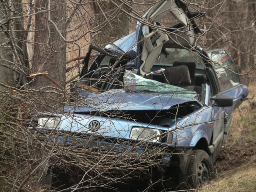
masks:
[[[161,130],[144,128],[144,127],[134,127],[131,130],[130,139],[158,142],[160,140]]]

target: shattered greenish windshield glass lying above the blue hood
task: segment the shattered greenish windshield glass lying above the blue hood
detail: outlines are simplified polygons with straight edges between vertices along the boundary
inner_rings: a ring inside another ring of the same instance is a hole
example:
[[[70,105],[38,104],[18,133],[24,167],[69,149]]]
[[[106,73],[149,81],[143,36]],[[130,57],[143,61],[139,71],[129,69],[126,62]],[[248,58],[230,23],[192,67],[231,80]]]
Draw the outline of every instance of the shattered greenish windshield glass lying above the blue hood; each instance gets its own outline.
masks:
[[[124,89],[126,92],[156,92],[156,93],[171,93],[182,94],[182,96],[192,97],[197,96],[196,92],[186,90],[181,87],[170,85],[167,83],[158,82],[156,80],[146,79],[136,75],[130,71],[124,73]]]

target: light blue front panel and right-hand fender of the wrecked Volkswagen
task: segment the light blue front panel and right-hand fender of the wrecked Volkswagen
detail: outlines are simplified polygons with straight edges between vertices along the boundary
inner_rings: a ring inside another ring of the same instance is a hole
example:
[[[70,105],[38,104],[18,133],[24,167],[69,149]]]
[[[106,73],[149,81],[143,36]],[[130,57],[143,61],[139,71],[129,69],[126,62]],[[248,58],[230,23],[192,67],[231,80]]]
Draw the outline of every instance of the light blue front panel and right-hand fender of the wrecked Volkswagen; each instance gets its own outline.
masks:
[[[200,110],[181,118],[172,126],[166,128],[159,125],[134,122],[132,120],[122,120],[115,118],[91,116],[85,114],[74,114],[70,118],[70,113],[56,114],[61,116],[60,130],[80,134],[93,134],[105,138],[117,138],[120,140],[130,140],[130,131],[133,127],[145,127],[164,130],[173,134],[172,143],[165,143],[166,146],[173,148],[192,148],[197,142],[204,138],[209,144],[212,136],[212,119],[214,116],[202,116],[202,113],[214,114],[212,107],[203,107]],[[81,112],[81,111],[80,111]],[[90,130],[89,124],[92,121],[98,121],[100,128],[97,131]],[[203,122],[203,123],[202,123]],[[160,143],[159,143],[160,144]],[[137,147],[137,149],[140,147]],[[143,148],[141,149],[143,150]]]

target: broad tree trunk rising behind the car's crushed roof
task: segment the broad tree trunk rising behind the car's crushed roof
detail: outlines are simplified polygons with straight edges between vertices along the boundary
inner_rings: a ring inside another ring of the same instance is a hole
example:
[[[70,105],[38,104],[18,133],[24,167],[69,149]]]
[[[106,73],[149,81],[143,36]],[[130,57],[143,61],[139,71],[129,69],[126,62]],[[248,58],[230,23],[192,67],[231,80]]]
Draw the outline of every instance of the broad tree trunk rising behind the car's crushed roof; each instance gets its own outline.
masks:
[[[114,1],[125,10],[128,8]],[[94,20],[91,26],[94,28],[92,41],[95,44],[106,45],[129,34],[129,18],[109,0],[92,2]]]

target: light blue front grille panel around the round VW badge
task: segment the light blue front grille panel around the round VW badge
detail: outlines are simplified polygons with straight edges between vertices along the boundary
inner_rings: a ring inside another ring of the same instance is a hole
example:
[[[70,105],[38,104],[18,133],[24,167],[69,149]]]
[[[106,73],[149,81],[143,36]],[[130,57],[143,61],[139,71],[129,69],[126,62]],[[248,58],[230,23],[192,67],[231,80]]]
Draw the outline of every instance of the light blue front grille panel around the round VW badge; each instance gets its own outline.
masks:
[[[60,120],[60,127],[58,131],[60,132],[67,132],[72,133],[73,136],[76,138],[80,138],[81,136],[99,136],[100,138],[116,138],[122,141],[132,141],[130,139],[130,132],[133,127],[142,127],[142,128],[152,128],[163,130],[167,134],[172,134],[172,128],[166,128],[159,125],[150,125],[147,123],[140,123],[135,122],[132,120],[122,120],[122,119],[115,119],[115,118],[107,118],[107,117],[100,117],[100,116],[91,116],[91,115],[84,115],[84,114],[74,114],[72,118],[70,118],[70,114],[54,114],[55,116],[59,116]],[[97,130],[90,129],[90,123],[97,121],[100,123],[100,127]],[[38,129],[44,129],[44,127],[38,126]],[[95,138],[95,137],[94,137]],[[97,142],[97,140],[95,140]],[[103,141],[102,141],[103,142]],[[100,142],[100,143],[102,143]],[[136,142],[136,140],[133,140]],[[138,141],[137,141],[138,142]],[[107,143],[107,142],[104,142]],[[109,143],[113,144],[113,143]],[[158,143],[162,144],[162,143]],[[174,147],[174,144],[165,143],[166,146]],[[127,147],[129,145],[126,145]],[[140,147],[137,147],[139,149]],[[143,150],[143,148],[141,148]]]

